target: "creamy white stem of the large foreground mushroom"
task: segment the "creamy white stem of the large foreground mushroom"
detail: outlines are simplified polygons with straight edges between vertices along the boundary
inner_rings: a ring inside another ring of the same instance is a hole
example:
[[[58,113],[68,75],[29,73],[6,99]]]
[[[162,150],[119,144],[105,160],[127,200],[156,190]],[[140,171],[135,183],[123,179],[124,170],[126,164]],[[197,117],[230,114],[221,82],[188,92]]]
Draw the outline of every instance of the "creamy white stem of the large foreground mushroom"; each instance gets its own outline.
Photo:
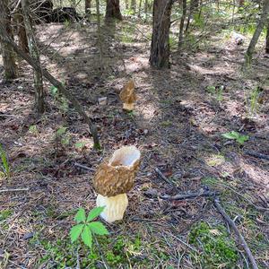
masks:
[[[100,216],[107,222],[120,221],[124,217],[128,205],[128,198],[126,194],[107,197],[97,195],[97,206],[106,206]]]

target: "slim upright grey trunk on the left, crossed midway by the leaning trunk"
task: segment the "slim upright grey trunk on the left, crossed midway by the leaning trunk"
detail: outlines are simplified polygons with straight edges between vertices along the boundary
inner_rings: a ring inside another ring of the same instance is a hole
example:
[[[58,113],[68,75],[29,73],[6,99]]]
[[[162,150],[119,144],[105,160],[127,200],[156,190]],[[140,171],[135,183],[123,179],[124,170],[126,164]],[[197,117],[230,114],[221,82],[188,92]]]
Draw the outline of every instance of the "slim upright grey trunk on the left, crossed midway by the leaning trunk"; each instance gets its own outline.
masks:
[[[29,0],[22,0],[22,13],[24,15],[24,25],[26,35],[29,44],[30,56],[36,61],[37,65],[40,66],[39,49],[36,44],[34,32],[30,22],[29,15]],[[40,69],[40,68],[39,68]],[[40,71],[34,71],[34,85],[35,85],[35,105],[38,113],[44,112],[44,90],[43,90],[43,76]]]

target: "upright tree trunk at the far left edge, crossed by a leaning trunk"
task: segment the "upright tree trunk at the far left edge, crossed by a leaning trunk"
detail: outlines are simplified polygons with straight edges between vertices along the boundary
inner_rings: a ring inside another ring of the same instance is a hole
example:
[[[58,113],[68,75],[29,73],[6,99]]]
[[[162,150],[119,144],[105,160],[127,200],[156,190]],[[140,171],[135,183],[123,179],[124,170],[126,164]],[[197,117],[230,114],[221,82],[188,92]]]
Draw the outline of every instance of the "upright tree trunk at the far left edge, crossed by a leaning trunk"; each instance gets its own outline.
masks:
[[[2,6],[0,7],[0,25],[4,27],[8,36],[13,39],[13,30],[11,27],[11,20],[8,10],[8,1],[2,0]],[[1,42],[2,57],[4,64],[4,80],[11,81],[17,77],[17,65],[13,53],[13,48],[4,42]]]

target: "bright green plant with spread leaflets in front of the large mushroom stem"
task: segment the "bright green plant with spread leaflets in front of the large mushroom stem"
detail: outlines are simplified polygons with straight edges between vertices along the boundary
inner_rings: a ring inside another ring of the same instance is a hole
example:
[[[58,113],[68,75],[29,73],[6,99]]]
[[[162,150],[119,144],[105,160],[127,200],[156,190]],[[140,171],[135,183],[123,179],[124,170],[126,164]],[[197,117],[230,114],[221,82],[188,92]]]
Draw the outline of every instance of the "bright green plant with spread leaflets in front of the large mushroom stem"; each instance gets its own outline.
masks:
[[[83,208],[79,209],[74,217],[77,224],[70,230],[72,243],[81,237],[86,246],[92,247],[92,235],[108,235],[108,230],[100,221],[93,221],[102,213],[104,208],[104,206],[93,208],[87,218],[85,210]]]

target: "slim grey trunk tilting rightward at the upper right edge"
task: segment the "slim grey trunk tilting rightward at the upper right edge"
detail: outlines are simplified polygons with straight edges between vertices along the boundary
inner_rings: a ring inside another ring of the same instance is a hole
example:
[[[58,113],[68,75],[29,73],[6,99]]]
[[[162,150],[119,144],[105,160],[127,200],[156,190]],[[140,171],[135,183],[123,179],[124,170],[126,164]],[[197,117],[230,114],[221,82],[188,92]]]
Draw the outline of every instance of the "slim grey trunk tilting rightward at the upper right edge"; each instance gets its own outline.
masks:
[[[267,17],[269,13],[269,0],[264,1],[263,6],[263,12],[261,14],[261,18],[259,22],[257,23],[256,30],[253,34],[253,37],[249,43],[249,46],[247,48],[247,53],[245,55],[245,66],[250,65],[252,61],[252,56],[255,51],[256,43],[261,35],[262,30],[265,27],[265,23],[267,22]]]

